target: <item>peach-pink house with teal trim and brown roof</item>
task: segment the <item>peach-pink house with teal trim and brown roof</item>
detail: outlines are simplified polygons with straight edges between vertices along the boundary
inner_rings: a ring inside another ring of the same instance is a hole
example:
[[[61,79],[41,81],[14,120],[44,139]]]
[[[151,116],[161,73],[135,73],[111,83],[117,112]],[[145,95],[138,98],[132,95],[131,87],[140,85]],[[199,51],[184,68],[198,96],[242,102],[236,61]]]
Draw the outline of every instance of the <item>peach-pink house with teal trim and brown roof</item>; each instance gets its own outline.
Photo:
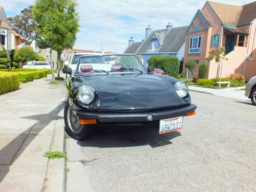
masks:
[[[210,50],[224,47],[228,60],[222,61],[222,77],[241,73],[249,79],[256,75],[255,18],[256,2],[233,6],[207,1],[186,30],[184,63],[188,60],[206,63],[206,78],[214,78],[218,65],[206,58]],[[185,67],[183,71],[187,78],[191,77]]]

